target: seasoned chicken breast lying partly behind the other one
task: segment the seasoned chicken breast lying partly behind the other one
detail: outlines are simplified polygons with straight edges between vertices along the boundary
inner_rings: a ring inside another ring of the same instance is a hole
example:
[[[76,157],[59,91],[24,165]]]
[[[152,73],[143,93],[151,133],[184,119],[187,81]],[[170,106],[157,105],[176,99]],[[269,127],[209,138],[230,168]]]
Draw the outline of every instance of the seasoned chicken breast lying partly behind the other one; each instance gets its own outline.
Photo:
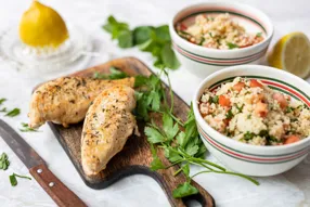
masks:
[[[82,120],[92,101],[113,85],[133,87],[134,78],[99,80],[82,77],[64,77],[40,86],[33,94],[29,127],[38,128],[46,121],[67,127]]]

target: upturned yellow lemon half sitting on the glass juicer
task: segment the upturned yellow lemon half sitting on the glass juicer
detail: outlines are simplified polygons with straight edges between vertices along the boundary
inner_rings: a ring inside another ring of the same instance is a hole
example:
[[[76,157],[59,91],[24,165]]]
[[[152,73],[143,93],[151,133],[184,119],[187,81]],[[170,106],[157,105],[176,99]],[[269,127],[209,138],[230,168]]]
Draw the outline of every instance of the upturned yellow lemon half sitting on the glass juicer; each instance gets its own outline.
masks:
[[[68,38],[68,30],[56,11],[35,0],[22,16],[20,38],[30,47],[56,48]]]

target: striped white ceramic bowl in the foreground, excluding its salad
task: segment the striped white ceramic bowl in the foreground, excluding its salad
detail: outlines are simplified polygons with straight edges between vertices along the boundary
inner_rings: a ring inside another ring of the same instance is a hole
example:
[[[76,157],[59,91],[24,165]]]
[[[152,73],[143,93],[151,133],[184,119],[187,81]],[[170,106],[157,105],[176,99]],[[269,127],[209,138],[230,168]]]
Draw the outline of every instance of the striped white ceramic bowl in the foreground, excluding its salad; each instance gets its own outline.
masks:
[[[202,140],[215,157],[237,172],[273,176],[293,168],[308,155],[310,137],[287,145],[257,146],[232,140],[212,129],[203,119],[198,111],[198,100],[204,90],[212,90],[237,76],[259,79],[270,88],[289,94],[310,107],[310,85],[292,74],[261,65],[228,67],[208,76],[195,92],[193,106]]]

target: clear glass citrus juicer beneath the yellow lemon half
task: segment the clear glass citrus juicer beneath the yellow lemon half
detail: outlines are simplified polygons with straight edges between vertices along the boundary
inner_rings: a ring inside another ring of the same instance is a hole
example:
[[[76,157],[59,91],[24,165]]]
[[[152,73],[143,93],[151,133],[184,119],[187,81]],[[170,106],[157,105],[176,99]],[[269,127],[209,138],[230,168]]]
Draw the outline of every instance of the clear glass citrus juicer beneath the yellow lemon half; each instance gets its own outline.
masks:
[[[50,73],[63,70],[91,52],[92,42],[83,29],[68,25],[69,38],[60,48],[34,49],[24,44],[18,37],[18,26],[2,34],[0,39],[1,57],[27,73]],[[83,60],[87,64],[87,60]],[[80,64],[79,64],[80,66]]]

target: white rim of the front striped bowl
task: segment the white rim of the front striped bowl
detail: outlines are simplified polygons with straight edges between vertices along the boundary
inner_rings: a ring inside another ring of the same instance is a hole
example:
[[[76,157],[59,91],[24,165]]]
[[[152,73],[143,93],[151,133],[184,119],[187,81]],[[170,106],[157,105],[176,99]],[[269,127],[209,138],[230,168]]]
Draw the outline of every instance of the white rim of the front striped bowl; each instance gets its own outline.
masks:
[[[217,134],[214,135],[212,138],[216,140],[219,140],[221,143],[227,143],[227,144],[231,144],[230,146],[233,148],[247,148],[247,150],[254,150],[254,151],[262,151],[264,154],[266,153],[270,153],[270,152],[274,152],[274,151],[283,151],[283,150],[288,150],[288,148],[298,148],[298,146],[301,146],[302,144],[307,143],[310,141],[310,135],[308,138],[305,138],[298,142],[292,143],[292,144],[287,144],[287,145],[275,145],[275,146],[261,146],[261,145],[251,145],[251,144],[247,144],[247,143],[243,143],[243,142],[238,142],[236,140],[233,140],[227,135],[223,135],[222,133],[218,132],[217,130],[215,130],[212,127],[210,127],[202,117],[201,112],[198,109],[198,100],[201,98],[201,90],[205,89],[205,85],[208,83],[208,81],[212,80],[214,78],[216,78],[219,75],[225,74],[228,72],[238,72],[238,70],[266,70],[266,73],[268,74],[268,72],[270,72],[270,69],[277,69],[274,67],[270,67],[270,66],[264,66],[264,65],[236,65],[236,66],[230,66],[230,67],[225,67],[219,72],[216,72],[211,75],[209,75],[208,77],[206,77],[201,85],[198,86],[198,88],[196,89],[195,93],[194,93],[194,99],[193,99],[193,109],[194,109],[194,116],[195,119],[197,121],[197,125],[199,125],[204,130],[207,129],[207,131],[211,131],[211,133]],[[281,76],[285,76],[285,77],[289,77],[295,79],[296,81],[303,81],[305,83],[308,83],[307,81],[305,81],[303,79],[289,74],[287,72],[284,70],[280,70],[277,69],[276,73],[281,74]],[[280,76],[280,77],[281,77]],[[276,78],[276,77],[273,77]],[[276,78],[277,79],[277,78]],[[309,90],[310,90],[310,85],[309,85]],[[307,145],[305,146],[307,147]],[[292,151],[294,152],[294,150]]]

